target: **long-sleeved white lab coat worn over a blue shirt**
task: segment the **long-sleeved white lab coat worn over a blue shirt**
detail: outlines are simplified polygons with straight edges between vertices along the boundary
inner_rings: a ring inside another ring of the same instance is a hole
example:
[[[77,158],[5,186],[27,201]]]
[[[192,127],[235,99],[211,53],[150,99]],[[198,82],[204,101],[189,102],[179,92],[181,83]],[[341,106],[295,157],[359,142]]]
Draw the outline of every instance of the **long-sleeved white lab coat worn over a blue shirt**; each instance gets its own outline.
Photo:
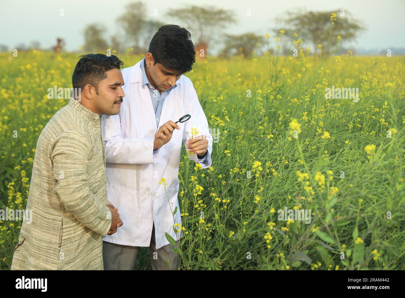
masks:
[[[211,166],[213,138],[191,80],[181,75],[176,82],[177,87],[164,100],[159,127],[169,120],[176,122],[186,114],[190,114],[191,118],[184,123],[178,122],[180,130],[175,129],[171,140],[153,154],[153,140],[158,129],[149,89],[141,86],[141,62],[143,59],[122,69],[125,97],[119,114],[102,116],[107,197],[118,208],[124,222],[115,234],[106,235],[103,240],[149,247],[154,222],[156,249],[159,249],[169,244],[165,232],[177,240],[173,225],[181,225],[177,200],[181,143],[185,146],[192,127],[199,131],[197,135],[205,135],[209,144],[207,164],[200,163],[195,153],[189,159],[207,168]],[[161,178],[166,178],[172,210],[177,207],[175,222],[163,184],[159,185]],[[181,238],[182,232],[178,236]]]

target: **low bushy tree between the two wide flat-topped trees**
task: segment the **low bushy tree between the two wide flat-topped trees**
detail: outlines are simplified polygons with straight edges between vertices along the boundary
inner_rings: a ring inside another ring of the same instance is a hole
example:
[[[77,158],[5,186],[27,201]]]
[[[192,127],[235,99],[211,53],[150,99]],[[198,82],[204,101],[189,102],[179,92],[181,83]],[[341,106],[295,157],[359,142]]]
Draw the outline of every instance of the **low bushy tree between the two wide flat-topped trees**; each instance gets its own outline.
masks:
[[[225,47],[222,51],[222,55],[229,56],[233,51],[233,54],[243,54],[243,58],[245,59],[264,41],[262,36],[254,33],[245,33],[241,35],[226,34],[225,38]]]

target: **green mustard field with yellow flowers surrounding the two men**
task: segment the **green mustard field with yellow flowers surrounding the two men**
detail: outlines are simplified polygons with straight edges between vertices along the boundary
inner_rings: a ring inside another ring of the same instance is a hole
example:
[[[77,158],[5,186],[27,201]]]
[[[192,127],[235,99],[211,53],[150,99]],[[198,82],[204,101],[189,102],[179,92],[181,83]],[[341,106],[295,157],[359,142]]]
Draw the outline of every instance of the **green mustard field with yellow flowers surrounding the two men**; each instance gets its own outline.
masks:
[[[182,148],[181,269],[405,269],[405,57],[298,53],[207,57],[185,74],[214,143],[209,169]],[[68,103],[48,88],[71,88],[78,56],[0,54],[3,210],[26,207],[38,136]],[[21,221],[0,223],[9,269]]]

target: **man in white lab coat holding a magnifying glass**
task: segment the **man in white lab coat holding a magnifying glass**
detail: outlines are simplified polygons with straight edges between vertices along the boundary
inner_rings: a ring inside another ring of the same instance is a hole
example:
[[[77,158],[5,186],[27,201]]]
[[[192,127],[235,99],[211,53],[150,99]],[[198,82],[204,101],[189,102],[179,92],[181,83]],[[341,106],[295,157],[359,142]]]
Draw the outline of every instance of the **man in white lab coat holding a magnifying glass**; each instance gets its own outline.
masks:
[[[190,37],[177,25],[160,27],[145,58],[122,70],[125,97],[120,113],[102,118],[107,197],[124,222],[115,234],[103,237],[104,270],[134,270],[140,247],[149,247],[153,270],[179,267],[175,246],[165,233],[179,245],[183,234],[173,225],[181,225],[181,145],[191,151],[189,159],[207,168],[213,141],[196,90],[182,75],[195,62]],[[189,120],[177,122],[187,114]],[[194,129],[198,135],[192,138]],[[159,183],[162,178],[167,197]]]

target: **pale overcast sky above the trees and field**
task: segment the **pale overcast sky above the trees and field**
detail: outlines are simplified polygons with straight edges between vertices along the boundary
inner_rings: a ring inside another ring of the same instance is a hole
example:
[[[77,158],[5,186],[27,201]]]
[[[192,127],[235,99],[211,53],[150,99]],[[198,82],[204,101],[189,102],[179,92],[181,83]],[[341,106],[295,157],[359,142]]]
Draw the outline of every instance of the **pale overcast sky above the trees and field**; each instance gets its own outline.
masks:
[[[66,42],[65,49],[74,51],[84,43],[85,25],[94,22],[102,23],[108,28],[104,37],[109,41],[111,35],[122,32],[115,20],[124,12],[124,6],[129,2],[132,1],[0,0],[0,45],[6,45],[11,50],[16,45],[24,43],[28,46],[31,41],[36,40],[42,47],[49,48],[55,45],[56,37],[60,36]],[[160,21],[183,27],[181,21],[163,15],[168,10],[168,5],[171,8],[180,8],[186,5],[186,1],[149,0],[144,3],[147,3],[147,19],[153,18],[153,10],[158,9]],[[354,18],[363,21],[368,29],[358,37],[356,43],[347,45],[364,49],[405,47],[405,0],[200,0],[194,3],[232,10],[238,23],[225,30],[229,34],[272,34],[271,29],[277,27],[275,17],[291,9],[333,11],[343,8],[350,11]],[[60,9],[64,9],[64,17],[60,16]],[[247,9],[251,9],[251,17],[246,16]],[[153,34],[150,37],[152,36]]]

